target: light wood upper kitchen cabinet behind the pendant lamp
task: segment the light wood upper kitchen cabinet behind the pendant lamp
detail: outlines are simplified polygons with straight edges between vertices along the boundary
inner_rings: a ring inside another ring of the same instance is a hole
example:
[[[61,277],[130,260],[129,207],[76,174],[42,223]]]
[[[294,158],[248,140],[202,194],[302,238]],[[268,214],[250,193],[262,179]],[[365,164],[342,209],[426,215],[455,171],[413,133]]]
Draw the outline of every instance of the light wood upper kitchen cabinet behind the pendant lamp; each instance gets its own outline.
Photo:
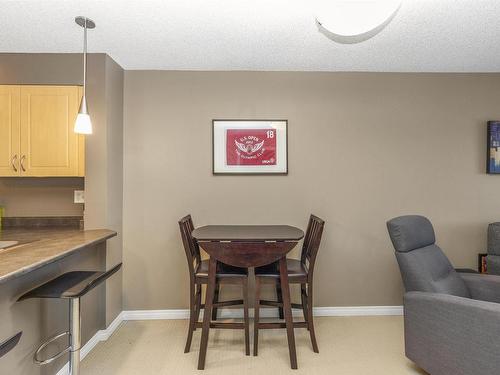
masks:
[[[79,86],[0,86],[0,176],[84,175],[84,136],[73,131],[81,95]]]

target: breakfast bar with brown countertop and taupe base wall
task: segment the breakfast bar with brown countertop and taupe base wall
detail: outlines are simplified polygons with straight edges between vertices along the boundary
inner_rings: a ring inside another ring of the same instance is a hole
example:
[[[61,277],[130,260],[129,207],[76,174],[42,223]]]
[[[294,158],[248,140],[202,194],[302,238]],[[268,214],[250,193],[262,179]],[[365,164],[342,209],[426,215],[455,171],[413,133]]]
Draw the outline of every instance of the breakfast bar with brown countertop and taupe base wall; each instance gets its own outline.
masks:
[[[65,365],[68,357],[62,356],[42,368],[32,354],[48,337],[68,331],[66,301],[19,301],[19,297],[68,272],[106,271],[107,240],[119,241],[115,236],[113,230],[74,226],[4,227],[0,231],[0,343],[22,332],[16,347],[1,358],[2,374],[56,374]],[[82,299],[81,345],[106,328],[106,295],[111,293],[114,291],[102,285]],[[65,345],[64,340],[52,344],[52,353]]]

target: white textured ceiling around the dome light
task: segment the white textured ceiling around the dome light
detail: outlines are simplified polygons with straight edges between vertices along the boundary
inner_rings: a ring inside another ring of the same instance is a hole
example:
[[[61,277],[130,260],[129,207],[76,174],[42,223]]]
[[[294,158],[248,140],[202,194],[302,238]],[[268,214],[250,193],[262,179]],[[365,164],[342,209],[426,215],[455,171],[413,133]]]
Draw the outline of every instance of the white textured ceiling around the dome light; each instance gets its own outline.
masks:
[[[327,0],[0,0],[0,52],[89,51],[125,69],[499,72],[500,0],[406,0],[360,44],[318,31]]]

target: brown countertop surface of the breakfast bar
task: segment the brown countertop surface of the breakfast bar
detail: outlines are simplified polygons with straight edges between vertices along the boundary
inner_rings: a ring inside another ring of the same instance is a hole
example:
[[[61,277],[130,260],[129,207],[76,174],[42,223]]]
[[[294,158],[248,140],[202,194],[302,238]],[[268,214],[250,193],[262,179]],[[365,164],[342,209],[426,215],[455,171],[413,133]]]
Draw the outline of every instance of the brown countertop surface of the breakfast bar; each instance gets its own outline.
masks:
[[[0,241],[19,244],[0,249],[0,283],[53,263],[86,246],[116,236],[108,229],[77,230],[7,229],[0,231]]]

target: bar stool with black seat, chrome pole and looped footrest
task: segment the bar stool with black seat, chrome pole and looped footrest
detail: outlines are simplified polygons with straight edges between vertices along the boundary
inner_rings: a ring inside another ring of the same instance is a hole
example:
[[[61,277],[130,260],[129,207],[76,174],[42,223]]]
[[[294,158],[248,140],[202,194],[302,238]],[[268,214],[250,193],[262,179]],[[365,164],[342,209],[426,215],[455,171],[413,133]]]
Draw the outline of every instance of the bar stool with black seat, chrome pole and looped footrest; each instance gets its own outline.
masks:
[[[30,290],[19,297],[19,301],[30,298],[64,298],[69,299],[69,331],[60,333],[38,347],[35,352],[34,360],[38,365],[46,365],[66,353],[69,356],[69,375],[80,374],[80,349],[81,349],[81,317],[80,317],[80,299],[92,289],[102,284],[111,275],[116,273],[122,264],[118,264],[106,272],[96,271],[73,271],[62,274],[61,276]],[[51,342],[61,337],[69,336],[70,344],[64,350],[51,358],[41,360],[40,352]]]

